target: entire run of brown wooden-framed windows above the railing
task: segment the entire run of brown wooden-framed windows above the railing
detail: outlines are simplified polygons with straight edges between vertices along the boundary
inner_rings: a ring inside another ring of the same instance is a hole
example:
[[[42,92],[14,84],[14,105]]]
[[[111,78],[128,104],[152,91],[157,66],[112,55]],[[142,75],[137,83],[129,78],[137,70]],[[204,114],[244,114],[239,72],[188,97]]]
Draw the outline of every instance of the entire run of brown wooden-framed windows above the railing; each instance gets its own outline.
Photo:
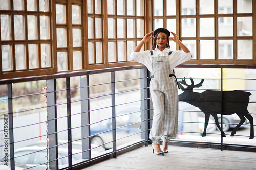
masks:
[[[131,52],[159,27],[194,54],[188,64],[255,65],[255,8],[252,0],[1,0],[0,79],[135,65]]]

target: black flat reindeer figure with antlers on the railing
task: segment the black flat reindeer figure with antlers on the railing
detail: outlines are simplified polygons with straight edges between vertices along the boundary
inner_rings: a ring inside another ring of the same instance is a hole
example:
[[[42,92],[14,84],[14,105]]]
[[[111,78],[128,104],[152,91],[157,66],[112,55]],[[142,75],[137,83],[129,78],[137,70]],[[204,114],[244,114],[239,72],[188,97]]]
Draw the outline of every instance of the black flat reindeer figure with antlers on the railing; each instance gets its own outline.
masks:
[[[239,124],[233,129],[231,136],[236,134],[238,128],[245,122],[245,117],[250,122],[250,138],[254,138],[254,129],[253,129],[253,117],[247,110],[247,106],[249,103],[249,96],[251,93],[245,91],[222,91],[222,105],[221,105],[221,91],[218,90],[206,90],[202,93],[193,92],[193,88],[202,86],[204,79],[201,80],[199,84],[194,84],[192,78],[191,85],[186,83],[185,78],[178,82],[180,88],[183,93],[179,95],[179,101],[183,101],[189,103],[193,106],[198,107],[205,114],[205,124],[204,124],[204,132],[202,136],[206,136],[206,128],[209,123],[210,115],[214,117],[216,126],[221,131],[221,127],[218,121],[217,114],[223,115],[231,115],[237,114],[241,121]],[[183,85],[187,86],[184,88]],[[222,107],[222,108],[221,108]],[[223,137],[226,137],[225,133],[222,131]]]

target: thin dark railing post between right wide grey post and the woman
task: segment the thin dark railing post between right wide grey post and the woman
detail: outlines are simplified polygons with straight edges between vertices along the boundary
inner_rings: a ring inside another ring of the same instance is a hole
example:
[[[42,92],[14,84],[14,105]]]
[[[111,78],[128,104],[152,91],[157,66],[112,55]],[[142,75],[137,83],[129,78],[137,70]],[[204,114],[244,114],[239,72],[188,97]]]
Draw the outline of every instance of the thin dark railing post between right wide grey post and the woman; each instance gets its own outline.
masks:
[[[111,72],[111,105],[112,105],[112,137],[113,158],[116,158],[116,98],[115,98],[115,72]]]

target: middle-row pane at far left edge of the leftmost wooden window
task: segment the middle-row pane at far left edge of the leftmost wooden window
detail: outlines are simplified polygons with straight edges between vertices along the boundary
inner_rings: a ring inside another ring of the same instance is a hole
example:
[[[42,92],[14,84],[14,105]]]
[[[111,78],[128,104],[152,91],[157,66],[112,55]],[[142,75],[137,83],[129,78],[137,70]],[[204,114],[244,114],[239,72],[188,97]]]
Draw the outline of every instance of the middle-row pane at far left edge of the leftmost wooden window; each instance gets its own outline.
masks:
[[[11,40],[11,20],[10,15],[0,15],[1,19],[1,40],[7,41]]]

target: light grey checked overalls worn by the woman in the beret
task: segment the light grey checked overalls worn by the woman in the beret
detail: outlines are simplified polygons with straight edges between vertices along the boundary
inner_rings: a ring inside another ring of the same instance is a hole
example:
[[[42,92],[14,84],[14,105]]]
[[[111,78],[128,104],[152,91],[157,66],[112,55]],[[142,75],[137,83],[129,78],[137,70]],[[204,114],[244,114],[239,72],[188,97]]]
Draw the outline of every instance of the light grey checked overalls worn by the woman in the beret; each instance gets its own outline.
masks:
[[[169,64],[170,54],[166,56],[152,55],[152,79],[150,92],[154,114],[150,131],[150,139],[160,144],[175,139],[178,131],[178,91],[173,71]]]

